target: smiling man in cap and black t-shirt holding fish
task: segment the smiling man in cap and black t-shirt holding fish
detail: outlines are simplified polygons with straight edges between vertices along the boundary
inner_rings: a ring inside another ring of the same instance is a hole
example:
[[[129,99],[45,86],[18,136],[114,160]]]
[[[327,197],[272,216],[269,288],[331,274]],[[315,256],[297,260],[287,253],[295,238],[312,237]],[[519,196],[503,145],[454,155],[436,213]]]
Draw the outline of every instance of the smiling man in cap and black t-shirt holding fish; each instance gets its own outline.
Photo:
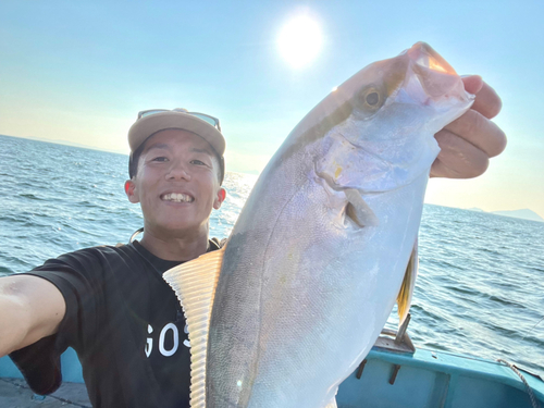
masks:
[[[477,76],[465,85],[477,100],[436,135],[432,176],[477,176],[505,147],[489,121],[499,98]],[[141,206],[141,242],[78,250],[0,279],[0,356],[11,353],[35,391],[54,391],[58,356],[72,346],[94,406],[188,406],[185,320],[161,274],[220,246],[208,238],[211,210],[225,198],[220,131],[208,115],[140,112],[128,132],[125,191]]]

